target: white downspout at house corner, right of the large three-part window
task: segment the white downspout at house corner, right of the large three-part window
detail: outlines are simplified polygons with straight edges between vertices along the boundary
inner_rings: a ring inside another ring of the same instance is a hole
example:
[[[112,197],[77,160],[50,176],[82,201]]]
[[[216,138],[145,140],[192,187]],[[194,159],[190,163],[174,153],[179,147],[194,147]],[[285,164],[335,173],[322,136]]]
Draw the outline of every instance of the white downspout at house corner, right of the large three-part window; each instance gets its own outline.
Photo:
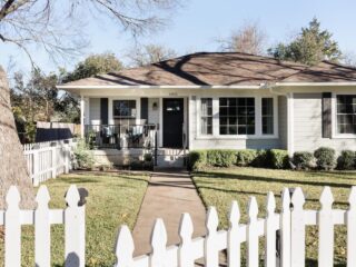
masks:
[[[294,150],[294,93],[293,92],[280,92],[274,90],[279,87],[276,83],[265,83],[264,89],[268,89],[271,95],[283,96],[287,98],[287,150],[291,158]],[[278,109],[279,110],[279,109]]]

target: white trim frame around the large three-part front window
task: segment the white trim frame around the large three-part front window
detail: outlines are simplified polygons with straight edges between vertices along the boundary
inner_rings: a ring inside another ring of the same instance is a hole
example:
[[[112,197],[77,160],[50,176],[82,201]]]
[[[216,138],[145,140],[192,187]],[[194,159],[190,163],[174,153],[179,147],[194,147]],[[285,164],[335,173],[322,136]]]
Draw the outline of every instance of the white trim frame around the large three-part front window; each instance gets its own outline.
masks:
[[[201,135],[200,119],[201,119],[201,98],[212,99],[212,135]],[[221,139],[221,140],[236,140],[236,139],[278,139],[278,97],[277,96],[224,96],[224,98],[255,98],[255,135],[220,135],[219,134],[219,98],[212,96],[199,96],[196,98],[196,132],[197,139],[199,140],[210,140],[210,139]],[[263,135],[261,131],[261,102],[263,98],[274,99],[274,134]]]

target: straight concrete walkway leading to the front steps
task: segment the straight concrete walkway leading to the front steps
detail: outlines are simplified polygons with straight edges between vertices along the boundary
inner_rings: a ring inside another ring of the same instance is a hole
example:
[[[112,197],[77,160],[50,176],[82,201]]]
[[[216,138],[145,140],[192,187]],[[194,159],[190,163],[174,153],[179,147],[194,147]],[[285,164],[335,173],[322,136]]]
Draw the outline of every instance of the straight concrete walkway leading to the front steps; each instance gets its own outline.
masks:
[[[206,233],[206,209],[187,171],[161,170],[151,174],[134,229],[135,256],[151,251],[150,235],[156,218],[162,218],[168,234],[168,245],[178,244],[180,215],[189,212],[194,222],[194,237]]]

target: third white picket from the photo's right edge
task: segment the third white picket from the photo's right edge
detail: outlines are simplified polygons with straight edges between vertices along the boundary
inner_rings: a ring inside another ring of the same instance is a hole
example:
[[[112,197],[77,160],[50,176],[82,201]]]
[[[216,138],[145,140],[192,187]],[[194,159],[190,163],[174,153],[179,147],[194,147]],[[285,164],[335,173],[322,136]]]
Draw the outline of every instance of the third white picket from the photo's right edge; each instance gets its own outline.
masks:
[[[297,187],[291,197],[293,211],[290,221],[290,251],[291,267],[305,266],[305,219],[304,209],[305,197],[300,187]]]

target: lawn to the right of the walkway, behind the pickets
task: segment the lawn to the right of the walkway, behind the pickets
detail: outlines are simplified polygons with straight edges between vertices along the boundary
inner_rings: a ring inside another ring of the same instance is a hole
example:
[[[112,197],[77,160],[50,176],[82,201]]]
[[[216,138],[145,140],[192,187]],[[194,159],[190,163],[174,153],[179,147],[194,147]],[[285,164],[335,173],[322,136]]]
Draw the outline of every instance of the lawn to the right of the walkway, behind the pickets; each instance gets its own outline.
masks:
[[[334,208],[347,209],[349,189],[356,185],[356,172],[342,171],[289,171],[259,168],[208,169],[194,174],[194,181],[208,206],[216,206],[220,218],[220,228],[227,228],[227,211],[233,200],[238,200],[241,220],[247,220],[249,196],[259,204],[259,216],[265,216],[266,195],[276,196],[277,210],[280,208],[280,192],[285,187],[301,187],[306,195],[305,208],[318,209],[319,196],[324,186],[334,194]],[[317,266],[317,228],[307,227],[307,266]],[[346,266],[346,227],[336,226],[335,266]]]

